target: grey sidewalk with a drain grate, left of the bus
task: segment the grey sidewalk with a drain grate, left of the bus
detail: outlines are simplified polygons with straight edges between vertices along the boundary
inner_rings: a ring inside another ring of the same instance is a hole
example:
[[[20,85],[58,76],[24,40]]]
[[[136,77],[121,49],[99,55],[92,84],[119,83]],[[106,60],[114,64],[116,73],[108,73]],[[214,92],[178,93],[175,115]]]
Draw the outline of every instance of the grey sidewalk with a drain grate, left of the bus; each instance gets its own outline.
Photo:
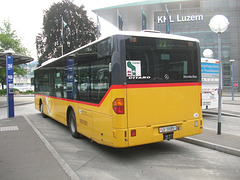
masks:
[[[69,179],[23,116],[0,121],[0,179]]]

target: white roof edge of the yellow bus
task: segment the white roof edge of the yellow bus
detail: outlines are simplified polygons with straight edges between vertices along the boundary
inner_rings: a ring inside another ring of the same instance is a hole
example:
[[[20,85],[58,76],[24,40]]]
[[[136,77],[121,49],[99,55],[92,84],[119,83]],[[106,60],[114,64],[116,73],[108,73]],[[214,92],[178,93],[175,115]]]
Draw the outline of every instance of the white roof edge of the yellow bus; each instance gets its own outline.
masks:
[[[35,70],[43,67],[43,66],[46,66],[52,62],[55,62],[61,58],[64,58],[64,57],[67,57],[71,54],[74,54],[75,52],[79,51],[80,49],[83,49],[89,45],[92,45],[94,43],[97,43],[99,41],[102,41],[104,39],[107,39],[109,37],[112,37],[112,36],[117,36],[117,35],[125,35],[125,36],[137,36],[137,37],[152,37],[152,38],[164,38],[164,39],[175,39],[175,40],[183,40],[183,41],[194,41],[194,42],[199,42],[198,39],[196,38],[191,38],[191,37],[186,37],[186,36],[180,36],[180,35],[174,35],[174,34],[165,34],[165,33],[161,33],[160,31],[152,31],[152,30],[145,30],[145,31],[116,31],[116,32],[113,32],[112,34],[110,35],[107,35],[107,36],[102,36],[100,37],[99,39],[91,42],[91,43],[88,43],[78,49],[75,49],[67,54],[64,54],[63,56],[60,56],[58,58],[52,58],[52,59],[49,59],[47,61],[45,61],[44,63],[42,63],[42,65],[38,68],[36,68]]]

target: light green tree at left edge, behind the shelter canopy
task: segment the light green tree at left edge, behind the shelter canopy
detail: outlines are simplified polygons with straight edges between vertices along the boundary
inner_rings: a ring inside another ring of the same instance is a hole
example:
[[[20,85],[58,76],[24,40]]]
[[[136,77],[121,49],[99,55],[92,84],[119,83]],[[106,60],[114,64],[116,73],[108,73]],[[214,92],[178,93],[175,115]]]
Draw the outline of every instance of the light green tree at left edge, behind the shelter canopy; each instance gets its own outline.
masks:
[[[16,54],[26,55],[28,53],[27,48],[23,47],[21,39],[17,36],[16,31],[11,29],[11,23],[9,21],[3,22],[3,27],[0,27],[0,52],[8,49],[13,49]],[[21,66],[13,67],[14,74],[17,76],[24,76],[27,71]],[[3,86],[6,84],[6,68],[0,68],[0,83]]]

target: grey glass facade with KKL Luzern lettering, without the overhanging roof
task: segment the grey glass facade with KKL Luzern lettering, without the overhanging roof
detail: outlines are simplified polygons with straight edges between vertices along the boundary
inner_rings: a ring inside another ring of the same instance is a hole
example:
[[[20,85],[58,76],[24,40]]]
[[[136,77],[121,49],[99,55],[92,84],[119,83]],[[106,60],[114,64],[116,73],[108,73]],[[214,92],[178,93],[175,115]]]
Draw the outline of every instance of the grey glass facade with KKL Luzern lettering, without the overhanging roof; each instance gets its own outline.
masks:
[[[165,4],[163,9],[165,8]],[[218,59],[218,38],[208,24],[210,19],[221,14],[228,18],[230,25],[222,33],[223,86],[231,86],[230,59],[235,60],[235,80],[239,81],[240,57],[240,1],[239,0],[193,0],[185,2],[171,2],[167,4],[169,10],[170,32],[198,38],[201,52],[211,49],[213,58]],[[166,10],[154,12],[154,30],[166,32]],[[234,80],[234,81],[235,81]]]

